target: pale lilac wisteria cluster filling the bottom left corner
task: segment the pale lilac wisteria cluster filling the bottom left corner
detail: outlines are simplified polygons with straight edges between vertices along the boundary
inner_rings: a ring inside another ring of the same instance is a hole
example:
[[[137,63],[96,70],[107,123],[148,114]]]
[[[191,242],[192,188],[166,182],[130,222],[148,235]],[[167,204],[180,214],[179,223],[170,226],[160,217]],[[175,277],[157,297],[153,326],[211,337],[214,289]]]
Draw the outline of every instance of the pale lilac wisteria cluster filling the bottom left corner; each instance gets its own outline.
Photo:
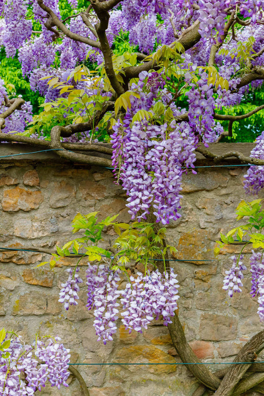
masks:
[[[11,336],[9,347],[0,351],[0,394],[32,396],[46,383],[67,387],[69,363],[69,349],[58,337],[37,338],[36,344],[25,345]]]

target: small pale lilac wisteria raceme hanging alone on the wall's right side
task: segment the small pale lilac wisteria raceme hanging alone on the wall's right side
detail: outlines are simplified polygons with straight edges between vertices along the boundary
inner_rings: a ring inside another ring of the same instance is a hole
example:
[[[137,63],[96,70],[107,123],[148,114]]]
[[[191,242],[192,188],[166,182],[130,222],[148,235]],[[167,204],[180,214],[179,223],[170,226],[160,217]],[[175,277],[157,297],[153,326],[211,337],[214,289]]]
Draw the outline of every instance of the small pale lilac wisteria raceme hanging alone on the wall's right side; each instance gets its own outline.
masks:
[[[247,268],[243,264],[243,256],[240,256],[240,259],[237,263],[237,257],[232,256],[231,259],[233,260],[233,265],[229,271],[225,271],[226,276],[223,280],[223,289],[228,290],[228,296],[232,297],[233,293],[240,293],[242,292],[241,288],[243,287],[242,279],[244,275],[242,271],[245,271]]]

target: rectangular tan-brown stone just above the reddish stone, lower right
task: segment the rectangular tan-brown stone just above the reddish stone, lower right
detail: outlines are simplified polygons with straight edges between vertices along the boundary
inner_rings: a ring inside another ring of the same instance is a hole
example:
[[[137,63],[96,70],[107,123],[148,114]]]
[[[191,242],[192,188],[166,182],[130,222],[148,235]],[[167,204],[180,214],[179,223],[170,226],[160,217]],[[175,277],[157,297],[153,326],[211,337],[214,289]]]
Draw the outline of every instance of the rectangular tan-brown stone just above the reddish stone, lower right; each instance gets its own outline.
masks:
[[[200,319],[200,338],[209,341],[235,340],[237,319],[231,316],[203,313]]]

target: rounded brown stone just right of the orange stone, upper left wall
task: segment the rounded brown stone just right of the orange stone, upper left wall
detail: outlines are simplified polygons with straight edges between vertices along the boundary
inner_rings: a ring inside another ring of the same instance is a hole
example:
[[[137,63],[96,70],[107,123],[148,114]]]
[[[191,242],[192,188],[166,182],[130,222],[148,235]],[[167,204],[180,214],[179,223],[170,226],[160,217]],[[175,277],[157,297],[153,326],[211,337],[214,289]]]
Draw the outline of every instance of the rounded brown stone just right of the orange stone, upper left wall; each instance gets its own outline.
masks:
[[[76,188],[71,183],[62,181],[55,184],[55,188],[51,194],[50,206],[52,208],[63,207],[70,204],[76,195]]]

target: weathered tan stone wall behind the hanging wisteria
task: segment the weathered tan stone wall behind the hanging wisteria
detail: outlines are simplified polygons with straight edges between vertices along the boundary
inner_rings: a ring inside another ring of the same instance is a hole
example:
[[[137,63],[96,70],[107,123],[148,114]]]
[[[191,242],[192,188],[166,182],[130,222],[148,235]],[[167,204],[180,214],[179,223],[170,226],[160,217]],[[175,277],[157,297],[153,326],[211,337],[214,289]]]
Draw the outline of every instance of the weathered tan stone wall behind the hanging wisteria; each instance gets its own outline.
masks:
[[[16,152],[13,145],[8,149]],[[113,183],[110,170],[57,161],[48,154],[42,160],[25,157],[5,158],[0,165],[0,247],[62,246],[71,238],[70,222],[77,212],[100,211],[102,217],[119,213],[119,221],[129,221],[125,195]],[[168,242],[178,248],[176,258],[182,260],[172,262],[180,283],[179,317],[191,347],[206,362],[231,361],[262,329],[256,299],[249,297],[249,274],[244,292],[232,299],[221,289],[230,255],[239,247],[228,247],[219,259],[212,252],[219,232],[233,228],[239,201],[251,199],[243,191],[245,169],[199,168],[197,175],[185,175],[182,217],[167,231]],[[112,234],[106,234],[105,246]],[[249,253],[250,248],[246,259]],[[14,329],[29,343],[37,332],[58,335],[71,349],[72,362],[180,362],[159,320],[142,335],[129,335],[119,323],[112,343],[97,342],[93,316],[85,308],[85,284],[77,307],[66,312],[57,301],[60,283],[67,278],[65,269],[75,265],[74,259],[61,259],[53,272],[35,268],[48,259],[35,252],[0,253],[0,328]],[[87,365],[79,370],[91,396],[189,396],[197,387],[182,365]],[[46,387],[41,394],[82,392],[70,379],[69,388]]]

